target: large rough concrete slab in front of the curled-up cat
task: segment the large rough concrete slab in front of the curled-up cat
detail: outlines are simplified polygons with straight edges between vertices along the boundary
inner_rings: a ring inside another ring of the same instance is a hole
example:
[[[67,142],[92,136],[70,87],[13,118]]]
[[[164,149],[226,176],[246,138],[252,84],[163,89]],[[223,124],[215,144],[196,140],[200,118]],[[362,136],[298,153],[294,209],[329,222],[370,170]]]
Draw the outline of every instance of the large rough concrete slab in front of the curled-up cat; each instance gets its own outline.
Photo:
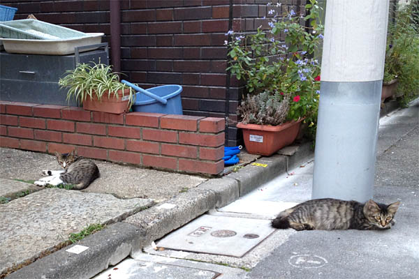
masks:
[[[153,204],[151,199],[45,189],[0,205],[0,274],[54,250],[68,234],[115,223]]]

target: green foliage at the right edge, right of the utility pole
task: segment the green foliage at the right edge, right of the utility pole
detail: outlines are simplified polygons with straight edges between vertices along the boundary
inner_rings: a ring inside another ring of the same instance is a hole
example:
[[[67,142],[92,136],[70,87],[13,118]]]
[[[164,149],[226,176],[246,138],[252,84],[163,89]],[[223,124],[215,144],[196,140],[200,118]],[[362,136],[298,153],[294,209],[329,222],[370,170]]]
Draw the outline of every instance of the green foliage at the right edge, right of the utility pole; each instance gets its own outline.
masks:
[[[418,1],[395,7],[395,21],[388,25],[383,82],[397,77],[397,91],[406,105],[419,96]]]

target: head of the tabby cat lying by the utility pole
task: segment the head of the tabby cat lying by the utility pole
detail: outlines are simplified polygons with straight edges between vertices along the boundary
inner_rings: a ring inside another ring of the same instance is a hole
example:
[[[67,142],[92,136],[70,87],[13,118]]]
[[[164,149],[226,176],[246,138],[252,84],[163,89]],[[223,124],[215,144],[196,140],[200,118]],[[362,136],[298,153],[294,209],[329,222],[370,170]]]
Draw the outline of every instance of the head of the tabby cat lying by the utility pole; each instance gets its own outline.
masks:
[[[364,215],[372,225],[380,229],[388,229],[392,224],[399,205],[400,202],[389,205],[377,204],[372,199],[369,199],[364,206]]]

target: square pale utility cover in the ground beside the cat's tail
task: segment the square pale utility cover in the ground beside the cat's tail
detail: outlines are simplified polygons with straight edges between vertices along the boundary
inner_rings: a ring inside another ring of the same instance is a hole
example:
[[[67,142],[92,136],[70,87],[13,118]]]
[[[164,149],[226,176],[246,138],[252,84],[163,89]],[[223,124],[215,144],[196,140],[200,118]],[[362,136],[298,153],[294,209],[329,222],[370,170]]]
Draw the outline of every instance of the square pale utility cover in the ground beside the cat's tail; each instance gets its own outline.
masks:
[[[161,239],[157,246],[242,257],[272,232],[270,220],[204,215]]]

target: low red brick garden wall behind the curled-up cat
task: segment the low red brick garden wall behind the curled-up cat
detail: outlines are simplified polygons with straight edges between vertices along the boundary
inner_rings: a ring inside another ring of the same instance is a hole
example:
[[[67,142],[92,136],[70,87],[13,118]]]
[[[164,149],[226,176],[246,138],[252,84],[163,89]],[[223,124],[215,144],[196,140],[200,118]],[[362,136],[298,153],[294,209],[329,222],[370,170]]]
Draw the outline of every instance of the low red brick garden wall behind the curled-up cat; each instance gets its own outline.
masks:
[[[220,118],[0,101],[0,146],[66,153],[178,172],[223,171]]]

